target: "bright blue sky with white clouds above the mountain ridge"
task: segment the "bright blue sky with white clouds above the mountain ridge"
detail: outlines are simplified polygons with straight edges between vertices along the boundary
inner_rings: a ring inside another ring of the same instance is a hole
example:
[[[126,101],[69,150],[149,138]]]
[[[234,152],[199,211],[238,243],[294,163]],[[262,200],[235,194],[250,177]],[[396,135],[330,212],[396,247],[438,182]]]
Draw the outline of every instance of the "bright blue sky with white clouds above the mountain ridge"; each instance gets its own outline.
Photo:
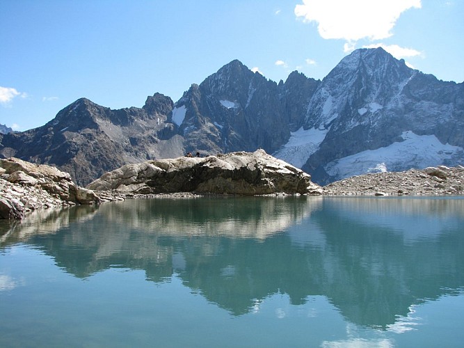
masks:
[[[323,79],[364,47],[461,83],[463,18],[464,0],[0,0],[0,124],[40,127],[80,97],[177,102],[234,59]]]

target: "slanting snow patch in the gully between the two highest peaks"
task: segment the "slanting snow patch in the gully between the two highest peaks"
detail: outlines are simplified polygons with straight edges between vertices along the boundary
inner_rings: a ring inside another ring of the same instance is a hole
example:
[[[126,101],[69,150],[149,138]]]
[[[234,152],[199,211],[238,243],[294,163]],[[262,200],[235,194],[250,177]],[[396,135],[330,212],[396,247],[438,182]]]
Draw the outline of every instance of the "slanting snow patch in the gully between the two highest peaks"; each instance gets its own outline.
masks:
[[[273,156],[282,161],[286,161],[296,168],[301,168],[307,159],[317,151],[319,145],[322,143],[328,129],[303,129],[301,127],[296,132],[290,133],[289,141],[274,152]]]

